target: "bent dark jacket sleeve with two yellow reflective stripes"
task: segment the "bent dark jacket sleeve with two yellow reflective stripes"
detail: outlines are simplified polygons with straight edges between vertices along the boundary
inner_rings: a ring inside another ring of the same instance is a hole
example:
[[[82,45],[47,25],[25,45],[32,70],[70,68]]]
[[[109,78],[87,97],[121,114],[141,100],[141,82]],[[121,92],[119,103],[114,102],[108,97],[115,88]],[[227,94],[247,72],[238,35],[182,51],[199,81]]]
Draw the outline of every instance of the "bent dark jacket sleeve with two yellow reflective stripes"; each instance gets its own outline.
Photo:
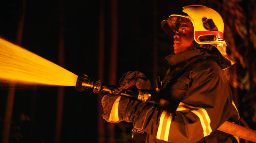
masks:
[[[232,93],[228,83],[207,70],[193,74],[185,98],[175,112],[134,101],[134,127],[156,139],[175,142],[197,142],[210,135],[229,117],[232,110]],[[134,112],[135,113],[135,112]]]

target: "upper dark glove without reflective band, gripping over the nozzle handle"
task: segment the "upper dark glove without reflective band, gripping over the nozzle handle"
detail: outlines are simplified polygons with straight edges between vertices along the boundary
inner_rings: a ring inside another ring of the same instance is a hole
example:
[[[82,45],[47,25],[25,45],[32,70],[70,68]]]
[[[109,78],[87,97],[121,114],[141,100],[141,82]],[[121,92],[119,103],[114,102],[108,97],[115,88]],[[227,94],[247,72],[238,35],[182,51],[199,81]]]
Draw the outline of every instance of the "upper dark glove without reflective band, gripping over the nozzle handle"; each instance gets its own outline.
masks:
[[[138,71],[129,71],[123,74],[123,76],[119,79],[119,86],[125,86],[129,81],[135,80],[135,86],[137,89],[150,90],[151,83],[148,78]]]

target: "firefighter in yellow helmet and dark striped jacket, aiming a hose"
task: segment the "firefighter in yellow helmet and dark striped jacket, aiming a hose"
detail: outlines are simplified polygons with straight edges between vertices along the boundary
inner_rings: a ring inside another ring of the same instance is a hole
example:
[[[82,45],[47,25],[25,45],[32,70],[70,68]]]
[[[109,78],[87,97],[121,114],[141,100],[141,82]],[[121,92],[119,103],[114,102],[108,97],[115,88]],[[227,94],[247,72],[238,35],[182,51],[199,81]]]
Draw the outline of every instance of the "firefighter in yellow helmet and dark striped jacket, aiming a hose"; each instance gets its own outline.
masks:
[[[147,133],[146,143],[236,143],[238,137],[218,131],[239,114],[223,73],[233,64],[226,54],[224,24],[215,10],[202,5],[180,8],[161,23],[174,38],[169,69],[158,76],[158,105],[123,96],[102,98],[103,118],[112,123],[132,122],[133,132]],[[123,75],[119,85],[136,80],[136,87],[152,90],[140,72]]]

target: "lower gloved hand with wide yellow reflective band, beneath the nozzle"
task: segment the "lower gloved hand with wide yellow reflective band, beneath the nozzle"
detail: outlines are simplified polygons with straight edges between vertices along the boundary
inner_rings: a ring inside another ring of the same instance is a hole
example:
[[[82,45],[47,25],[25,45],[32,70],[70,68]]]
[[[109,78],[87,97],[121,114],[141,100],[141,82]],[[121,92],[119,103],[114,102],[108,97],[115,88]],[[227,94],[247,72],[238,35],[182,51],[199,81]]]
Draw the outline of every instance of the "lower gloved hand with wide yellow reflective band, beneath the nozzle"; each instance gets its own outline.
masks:
[[[140,130],[144,126],[146,116],[150,116],[150,113],[154,110],[153,108],[155,108],[150,104],[113,94],[105,95],[101,103],[103,107],[102,117],[106,121],[111,123],[133,122],[134,128]],[[151,112],[149,112],[150,110]]]

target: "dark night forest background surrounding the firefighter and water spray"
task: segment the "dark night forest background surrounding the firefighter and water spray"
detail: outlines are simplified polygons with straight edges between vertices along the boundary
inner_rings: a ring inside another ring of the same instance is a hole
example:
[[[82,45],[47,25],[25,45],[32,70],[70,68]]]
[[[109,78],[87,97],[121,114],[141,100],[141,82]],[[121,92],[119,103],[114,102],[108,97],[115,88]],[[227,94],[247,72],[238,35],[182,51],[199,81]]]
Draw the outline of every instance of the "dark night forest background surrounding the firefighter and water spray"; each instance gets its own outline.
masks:
[[[164,74],[172,37],[161,21],[179,7],[200,4],[222,15],[227,75],[241,125],[256,130],[255,0],[7,0],[0,2],[0,37],[74,74],[116,84],[123,73],[143,72],[154,84]],[[0,88],[3,143],[141,143],[132,124],[102,120],[100,99],[74,87]],[[247,142],[247,141],[242,141]]]

